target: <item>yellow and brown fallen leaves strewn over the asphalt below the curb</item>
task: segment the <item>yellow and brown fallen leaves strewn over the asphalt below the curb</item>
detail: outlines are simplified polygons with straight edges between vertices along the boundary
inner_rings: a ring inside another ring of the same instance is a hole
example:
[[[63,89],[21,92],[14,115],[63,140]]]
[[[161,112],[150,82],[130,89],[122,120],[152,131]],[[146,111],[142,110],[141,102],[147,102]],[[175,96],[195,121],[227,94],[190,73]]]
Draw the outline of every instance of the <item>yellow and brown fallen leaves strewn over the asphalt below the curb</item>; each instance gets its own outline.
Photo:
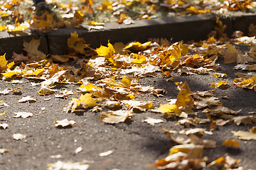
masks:
[[[223,126],[230,121],[236,125],[241,123],[253,125],[255,116],[240,116],[240,111],[233,111],[223,106],[213,91],[191,92],[186,81],[175,83],[179,91],[178,96],[167,104],[156,106],[151,101],[137,100],[137,96],[143,93],[156,96],[166,93],[164,89],[155,89],[154,86],[142,86],[139,84],[139,79],[142,77],[155,77],[156,74],[161,74],[162,77],[169,77],[169,81],[172,81],[171,73],[178,72],[181,75],[214,74],[215,77],[225,78],[225,73],[217,72],[218,57],[224,57],[225,63],[236,62],[237,66],[234,69],[254,71],[256,69],[255,37],[242,36],[240,31],[236,31],[233,38],[229,39],[220,31],[224,29],[221,28],[222,23],[219,20],[217,20],[217,25],[215,31],[209,34],[215,37],[210,36],[208,40],[201,42],[171,44],[164,39],[154,39],[144,43],[131,42],[127,45],[122,42],[112,45],[109,42],[107,47],[101,45],[96,50],[90,49],[83,38],[78,38],[78,33],[72,33],[67,42],[71,53],[63,56],[46,56],[38,51],[40,40],[31,40],[31,42],[23,43],[26,55],[14,53],[9,61],[6,61],[4,55],[0,57],[1,78],[17,83],[16,78],[36,79],[39,83],[33,86],[41,86],[38,91],[39,95],[54,94],[55,97],[68,98],[69,95],[76,94],[66,106],[63,106],[63,112],[74,113],[90,109],[100,114],[99,117],[103,123],[122,123],[131,119],[134,113],[146,111],[162,113],[164,118],[182,118],[178,120],[177,125],[184,125],[188,128],[206,123],[210,131],[204,128],[180,132],[164,129],[167,137],[178,145],[171,147],[168,157],[157,161],[150,167],[154,169],[201,169],[218,165],[225,169],[232,169],[240,160],[227,155],[218,157],[216,160],[203,157],[204,148],[215,148],[217,143],[213,140],[203,140],[202,137],[198,137],[198,134],[212,135],[218,126]],[[246,43],[249,49],[246,53],[234,46],[241,43]],[[75,62],[80,64],[80,67],[75,68],[54,62]],[[219,81],[218,84],[213,83],[212,87],[237,86],[256,91],[254,72],[237,73],[237,75],[238,78],[233,80],[233,84]],[[78,91],[58,91],[55,89],[55,84],[78,84]],[[21,88],[1,89],[0,94],[17,93],[20,90]],[[18,102],[36,102],[36,100],[27,96]],[[1,106],[6,107],[6,104]],[[189,118],[201,109],[203,109],[203,114],[206,113],[206,119]],[[32,115],[32,113],[16,113],[14,118],[28,118]],[[151,125],[163,122],[163,120],[154,118],[146,118],[144,121]],[[73,120],[56,120],[55,126],[65,127],[74,123]],[[0,127],[5,129],[8,124],[1,124]],[[189,138],[188,140],[184,137],[174,138],[171,136],[172,133],[179,133]],[[238,131],[233,134],[240,140],[256,140],[255,127],[249,131]],[[16,137],[17,140],[23,138],[21,134]],[[239,147],[239,142],[226,140],[223,145]],[[8,149],[3,149],[3,152],[6,151]],[[240,167],[240,169],[243,168]]]

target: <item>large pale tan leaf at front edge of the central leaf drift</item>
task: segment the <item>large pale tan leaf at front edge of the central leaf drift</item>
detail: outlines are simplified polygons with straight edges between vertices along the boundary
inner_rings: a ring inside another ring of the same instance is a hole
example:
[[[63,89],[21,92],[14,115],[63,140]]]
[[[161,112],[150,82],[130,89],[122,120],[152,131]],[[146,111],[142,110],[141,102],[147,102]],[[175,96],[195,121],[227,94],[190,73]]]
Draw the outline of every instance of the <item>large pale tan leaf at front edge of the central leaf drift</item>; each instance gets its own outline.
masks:
[[[114,123],[121,123],[124,122],[127,118],[129,118],[129,116],[132,116],[132,111],[123,111],[123,110],[119,110],[119,111],[109,111],[110,113],[105,113],[102,112],[102,121],[104,123],[110,123],[110,124],[114,124]]]

